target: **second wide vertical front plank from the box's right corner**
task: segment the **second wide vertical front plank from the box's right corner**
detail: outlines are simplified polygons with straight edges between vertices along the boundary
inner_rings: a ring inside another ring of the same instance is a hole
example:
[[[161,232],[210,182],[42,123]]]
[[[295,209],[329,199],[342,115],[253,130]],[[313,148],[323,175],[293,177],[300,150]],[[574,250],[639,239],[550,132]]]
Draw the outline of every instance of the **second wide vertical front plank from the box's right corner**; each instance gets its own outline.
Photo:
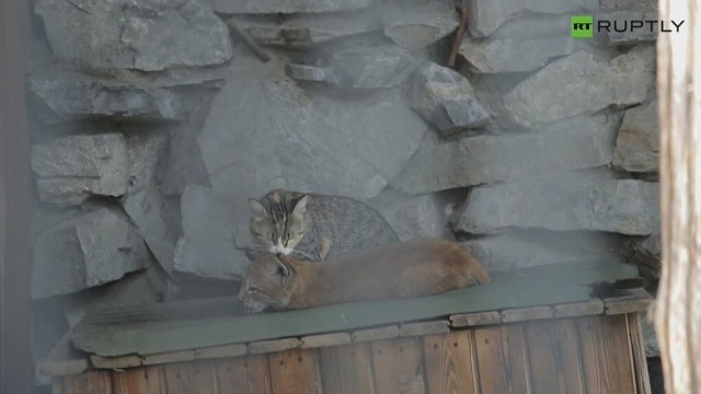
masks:
[[[586,393],[574,320],[530,322],[524,328],[533,393]]]

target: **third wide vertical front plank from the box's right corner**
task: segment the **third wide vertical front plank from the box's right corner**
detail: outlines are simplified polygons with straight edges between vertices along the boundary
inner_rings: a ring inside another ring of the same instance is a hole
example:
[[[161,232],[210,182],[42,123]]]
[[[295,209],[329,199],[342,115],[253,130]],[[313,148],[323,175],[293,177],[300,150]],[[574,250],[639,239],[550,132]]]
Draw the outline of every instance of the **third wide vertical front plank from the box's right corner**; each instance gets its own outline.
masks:
[[[474,345],[482,393],[532,393],[520,325],[476,328]]]

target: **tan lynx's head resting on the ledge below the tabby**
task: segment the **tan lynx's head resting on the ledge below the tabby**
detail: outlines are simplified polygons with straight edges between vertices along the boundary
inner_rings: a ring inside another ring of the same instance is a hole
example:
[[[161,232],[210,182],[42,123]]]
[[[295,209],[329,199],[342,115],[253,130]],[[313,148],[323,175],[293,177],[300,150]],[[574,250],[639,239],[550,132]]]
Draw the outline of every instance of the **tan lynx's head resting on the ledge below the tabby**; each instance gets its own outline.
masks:
[[[294,273],[272,253],[258,253],[241,282],[239,301],[245,313],[281,310],[289,304]]]

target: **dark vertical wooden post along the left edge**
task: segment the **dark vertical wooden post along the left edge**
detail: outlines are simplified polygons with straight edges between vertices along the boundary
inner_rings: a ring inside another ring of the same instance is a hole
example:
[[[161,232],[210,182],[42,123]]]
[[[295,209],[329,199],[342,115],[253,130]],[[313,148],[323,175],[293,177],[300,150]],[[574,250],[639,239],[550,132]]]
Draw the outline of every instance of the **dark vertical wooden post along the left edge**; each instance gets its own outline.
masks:
[[[28,1],[0,1],[0,393],[28,393]]]

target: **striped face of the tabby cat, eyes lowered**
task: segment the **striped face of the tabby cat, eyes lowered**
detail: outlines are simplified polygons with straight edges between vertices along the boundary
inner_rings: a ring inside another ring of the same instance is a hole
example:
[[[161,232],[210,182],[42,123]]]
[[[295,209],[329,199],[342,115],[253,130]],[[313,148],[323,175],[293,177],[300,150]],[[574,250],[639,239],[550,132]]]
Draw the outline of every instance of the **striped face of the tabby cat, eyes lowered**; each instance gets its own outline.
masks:
[[[249,229],[253,241],[271,253],[291,254],[307,228],[307,199],[308,196],[303,196],[295,205],[277,194],[272,194],[263,202],[250,199]]]

